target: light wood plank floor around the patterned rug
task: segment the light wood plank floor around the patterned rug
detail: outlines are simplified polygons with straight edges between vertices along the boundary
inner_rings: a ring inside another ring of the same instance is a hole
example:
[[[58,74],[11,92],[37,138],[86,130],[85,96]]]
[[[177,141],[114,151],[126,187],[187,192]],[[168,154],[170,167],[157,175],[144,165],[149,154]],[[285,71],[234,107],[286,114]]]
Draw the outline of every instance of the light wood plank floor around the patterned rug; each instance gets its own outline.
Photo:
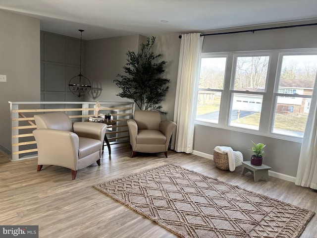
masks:
[[[241,167],[234,172],[217,169],[212,160],[168,151],[137,154],[131,158],[127,143],[111,145],[97,163],[79,170],[71,180],[69,169],[43,166],[37,172],[37,159],[10,162],[0,156],[0,225],[38,225],[40,238],[175,238],[155,222],[130,210],[93,188],[98,182],[173,163],[189,170],[262,193],[317,212],[317,192],[292,182],[269,177],[253,181]],[[317,215],[301,238],[317,237]]]

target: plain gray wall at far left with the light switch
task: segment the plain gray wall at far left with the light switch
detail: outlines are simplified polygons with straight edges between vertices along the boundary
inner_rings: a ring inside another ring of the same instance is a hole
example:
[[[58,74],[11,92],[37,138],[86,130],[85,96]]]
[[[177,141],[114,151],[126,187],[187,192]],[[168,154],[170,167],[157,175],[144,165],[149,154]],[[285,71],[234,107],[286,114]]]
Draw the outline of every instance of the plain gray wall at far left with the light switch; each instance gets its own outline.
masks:
[[[11,151],[8,101],[40,101],[40,20],[0,10],[0,149]]]

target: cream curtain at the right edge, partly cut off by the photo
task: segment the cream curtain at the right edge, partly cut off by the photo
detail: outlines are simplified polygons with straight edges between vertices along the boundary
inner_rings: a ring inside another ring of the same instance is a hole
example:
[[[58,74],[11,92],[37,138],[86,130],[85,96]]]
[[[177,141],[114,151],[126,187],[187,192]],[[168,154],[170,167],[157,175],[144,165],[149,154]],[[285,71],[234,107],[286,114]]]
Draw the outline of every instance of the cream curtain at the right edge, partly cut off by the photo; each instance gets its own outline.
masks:
[[[317,75],[306,122],[295,184],[317,189]]]

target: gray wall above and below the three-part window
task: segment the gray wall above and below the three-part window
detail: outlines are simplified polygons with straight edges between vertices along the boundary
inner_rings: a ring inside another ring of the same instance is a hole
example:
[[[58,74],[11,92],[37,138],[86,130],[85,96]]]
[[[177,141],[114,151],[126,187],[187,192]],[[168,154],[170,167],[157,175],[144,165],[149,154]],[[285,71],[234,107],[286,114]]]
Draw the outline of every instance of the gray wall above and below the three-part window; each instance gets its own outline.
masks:
[[[293,22],[294,25],[305,23],[311,22]],[[275,26],[280,25],[265,25],[258,28]],[[234,29],[234,31],[249,29],[252,28]],[[230,29],[226,31],[230,31]],[[316,39],[317,26],[205,36],[203,52],[317,48]],[[252,155],[252,152],[249,151],[252,148],[251,140],[266,144],[263,163],[272,167],[271,171],[296,177],[301,148],[300,142],[199,124],[195,125],[194,150],[198,152],[212,155],[213,148],[217,145],[231,146],[234,150],[243,153],[244,160],[250,160]]]

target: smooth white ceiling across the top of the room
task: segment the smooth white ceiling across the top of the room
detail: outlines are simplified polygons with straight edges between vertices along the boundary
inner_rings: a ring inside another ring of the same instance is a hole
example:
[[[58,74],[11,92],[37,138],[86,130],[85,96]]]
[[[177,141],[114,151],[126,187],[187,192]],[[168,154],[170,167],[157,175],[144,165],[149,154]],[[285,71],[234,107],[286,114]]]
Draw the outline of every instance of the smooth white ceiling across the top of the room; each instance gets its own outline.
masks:
[[[317,19],[317,0],[0,0],[0,9],[39,18],[48,32],[83,29],[84,40]]]

